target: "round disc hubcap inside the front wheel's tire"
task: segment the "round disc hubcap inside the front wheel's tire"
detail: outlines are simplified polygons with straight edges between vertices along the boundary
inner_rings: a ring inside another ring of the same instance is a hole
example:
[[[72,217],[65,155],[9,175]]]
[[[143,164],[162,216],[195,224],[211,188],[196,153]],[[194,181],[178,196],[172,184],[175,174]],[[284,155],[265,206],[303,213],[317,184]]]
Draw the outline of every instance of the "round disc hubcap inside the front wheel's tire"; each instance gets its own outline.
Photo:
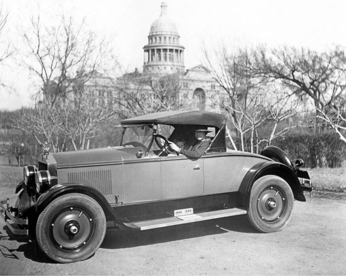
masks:
[[[94,220],[79,207],[67,207],[51,220],[50,235],[54,244],[63,250],[79,251],[94,232]]]

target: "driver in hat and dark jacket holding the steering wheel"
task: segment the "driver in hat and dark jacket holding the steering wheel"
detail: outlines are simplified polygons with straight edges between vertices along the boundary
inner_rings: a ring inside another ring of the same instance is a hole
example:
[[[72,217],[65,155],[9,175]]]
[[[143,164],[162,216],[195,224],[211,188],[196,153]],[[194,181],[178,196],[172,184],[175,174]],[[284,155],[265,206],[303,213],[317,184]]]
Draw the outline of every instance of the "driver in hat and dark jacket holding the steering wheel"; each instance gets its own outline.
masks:
[[[209,146],[210,141],[206,137],[208,132],[210,132],[208,129],[196,129],[196,140],[192,144],[185,148],[180,148],[175,143],[169,142],[169,147],[179,154],[184,154],[186,157],[199,158],[204,154]]]

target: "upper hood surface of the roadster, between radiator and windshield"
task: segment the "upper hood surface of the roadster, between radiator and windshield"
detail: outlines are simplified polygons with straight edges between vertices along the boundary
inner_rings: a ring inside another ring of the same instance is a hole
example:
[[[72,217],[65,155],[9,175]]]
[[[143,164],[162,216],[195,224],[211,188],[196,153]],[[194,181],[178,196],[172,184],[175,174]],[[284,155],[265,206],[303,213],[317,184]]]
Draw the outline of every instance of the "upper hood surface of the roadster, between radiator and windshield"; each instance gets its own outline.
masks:
[[[57,169],[66,167],[84,167],[91,165],[117,164],[125,160],[137,159],[139,147],[106,147],[87,150],[53,153]]]

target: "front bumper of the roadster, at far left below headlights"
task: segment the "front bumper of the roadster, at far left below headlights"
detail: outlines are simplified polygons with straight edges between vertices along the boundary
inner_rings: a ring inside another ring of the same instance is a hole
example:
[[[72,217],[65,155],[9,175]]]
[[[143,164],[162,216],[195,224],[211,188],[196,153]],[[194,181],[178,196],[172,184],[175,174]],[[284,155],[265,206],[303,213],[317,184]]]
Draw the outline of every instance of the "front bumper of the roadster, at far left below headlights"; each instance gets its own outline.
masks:
[[[0,216],[5,220],[7,227],[15,235],[29,236],[28,219],[15,217],[13,207],[10,207],[10,199],[0,201]]]

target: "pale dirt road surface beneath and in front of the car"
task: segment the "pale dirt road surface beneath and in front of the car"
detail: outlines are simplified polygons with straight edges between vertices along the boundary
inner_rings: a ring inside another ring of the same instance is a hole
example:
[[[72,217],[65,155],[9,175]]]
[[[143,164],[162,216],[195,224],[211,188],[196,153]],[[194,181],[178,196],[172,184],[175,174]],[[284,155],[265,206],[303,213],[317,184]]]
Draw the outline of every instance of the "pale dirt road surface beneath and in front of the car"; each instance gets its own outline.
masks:
[[[246,215],[146,232],[107,231],[88,260],[57,264],[12,240],[0,222],[0,274],[340,275],[346,273],[346,200],[295,201],[289,225],[260,234]]]

